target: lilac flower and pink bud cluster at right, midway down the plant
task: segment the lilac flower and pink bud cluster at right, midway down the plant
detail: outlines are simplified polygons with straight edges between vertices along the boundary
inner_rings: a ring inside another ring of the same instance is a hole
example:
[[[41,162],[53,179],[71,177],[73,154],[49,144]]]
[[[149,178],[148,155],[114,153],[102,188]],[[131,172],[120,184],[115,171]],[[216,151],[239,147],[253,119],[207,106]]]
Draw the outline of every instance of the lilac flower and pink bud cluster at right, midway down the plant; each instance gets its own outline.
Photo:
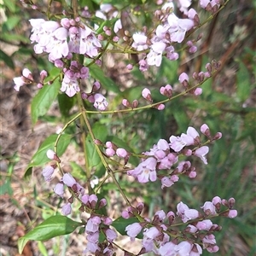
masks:
[[[221,138],[221,133],[218,132],[213,137],[210,134],[209,127],[201,125],[201,132],[206,135],[210,141]],[[189,161],[180,162],[176,168],[168,175],[161,175],[160,170],[171,170],[180,154],[185,156],[199,157],[204,164],[207,165],[206,154],[209,148],[201,144],[201,138],[195,128],[189,126],[187,133],[182,133],[181,136],[171,136],[168,143],[165,139],[160,139],[153,148],[144,152],[142,162],[134,169],[127,172],[128,175],[136,177],[139,183],[148,183],[150,180],[154,182],[159,178],[162,183],[162,188],[171,187],[177,182],[178,175],[183,173],[190,178],[196,177],[195,167],[191,166]]]

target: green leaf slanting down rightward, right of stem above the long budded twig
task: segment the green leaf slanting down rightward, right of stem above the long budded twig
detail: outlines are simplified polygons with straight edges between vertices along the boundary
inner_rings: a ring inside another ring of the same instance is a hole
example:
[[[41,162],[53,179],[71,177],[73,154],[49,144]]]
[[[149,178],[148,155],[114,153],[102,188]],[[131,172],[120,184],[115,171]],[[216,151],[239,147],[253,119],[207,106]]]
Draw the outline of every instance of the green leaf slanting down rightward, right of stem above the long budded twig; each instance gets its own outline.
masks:
[[[108,77],[105,76],[101,67],[98,67],[96,64],[94,64],[94,65],[91,65],[89,69],[90,69],[90,75],[94,79],[100,81],[100,83],[105,89],[112,90],[113,92],[116,92],[116,93],[120,92],[118,85],[114,84],[112,79],[109,79]]]

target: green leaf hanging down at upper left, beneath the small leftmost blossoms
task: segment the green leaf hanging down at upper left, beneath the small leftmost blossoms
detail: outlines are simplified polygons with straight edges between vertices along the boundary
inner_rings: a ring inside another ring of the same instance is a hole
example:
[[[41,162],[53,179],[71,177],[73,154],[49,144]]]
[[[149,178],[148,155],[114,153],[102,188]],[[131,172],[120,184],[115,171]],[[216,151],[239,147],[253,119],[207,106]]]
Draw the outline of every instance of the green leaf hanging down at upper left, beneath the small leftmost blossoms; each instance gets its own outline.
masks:
[[[39,116],[43,116],[47,113],[52,102],[55,101],[59,90],[60,82],[58,79],[55,79],[53,84],[44,85],[44,87],[40,89],[38,94],[32,99],[32,125],[37,123]]]

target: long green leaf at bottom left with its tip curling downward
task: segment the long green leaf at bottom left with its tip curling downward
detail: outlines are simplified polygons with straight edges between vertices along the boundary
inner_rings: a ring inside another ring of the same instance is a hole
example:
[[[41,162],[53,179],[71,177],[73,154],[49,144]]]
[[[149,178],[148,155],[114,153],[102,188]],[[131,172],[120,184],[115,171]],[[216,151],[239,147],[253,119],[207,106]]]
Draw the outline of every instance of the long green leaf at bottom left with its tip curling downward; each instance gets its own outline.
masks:
[[[22,253],[26,242],[29,240],[44,241],[55,236],[63,236],[72,233],[77,227],[84,225],[73,221],[66,216],[56,215],[46,219],[25,236],[18,240],[19,252]]]

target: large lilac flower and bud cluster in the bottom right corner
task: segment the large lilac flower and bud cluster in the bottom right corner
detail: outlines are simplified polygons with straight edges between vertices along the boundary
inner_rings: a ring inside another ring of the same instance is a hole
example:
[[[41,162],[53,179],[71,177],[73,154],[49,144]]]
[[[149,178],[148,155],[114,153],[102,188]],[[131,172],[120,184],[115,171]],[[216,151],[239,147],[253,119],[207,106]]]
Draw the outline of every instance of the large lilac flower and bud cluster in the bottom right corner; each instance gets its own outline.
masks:
[[[203,212],[189,208],[182,201],[177,204],[177,213],[164,212],[160,210],[155,212],[152,221],[144,218],[139,223],[129,224],[125,231],[134,241],[138,234],[143,233],[142,249],[137,255],[153,252],[160,256],[169,255],[188,255],[199,256],[203,249],[210,253],[218,252],[214,232],[221,230],[218,224],[212,224],[209,219],[213,216],[225,216],[235,218],[236,210],[231,210],[229,201],[221,200],[215,196],[212,201],[206,201],[201,207]],[[227,203],[228,202],[228,203]],[[235,202],[235,201],[234,201]],[[221,205],[228,207],[224,212],[220,212]],[[143,210],[143,204],[140,209],[128,208],[122,212],[123,218],[131,218],[140,214]],[[176,230],[177,222],[182,220],[183,224],[189,223],[182,231]],[[172,241],[170,239],[172,238]],[[197,243],[198,242],[198,243]]]

